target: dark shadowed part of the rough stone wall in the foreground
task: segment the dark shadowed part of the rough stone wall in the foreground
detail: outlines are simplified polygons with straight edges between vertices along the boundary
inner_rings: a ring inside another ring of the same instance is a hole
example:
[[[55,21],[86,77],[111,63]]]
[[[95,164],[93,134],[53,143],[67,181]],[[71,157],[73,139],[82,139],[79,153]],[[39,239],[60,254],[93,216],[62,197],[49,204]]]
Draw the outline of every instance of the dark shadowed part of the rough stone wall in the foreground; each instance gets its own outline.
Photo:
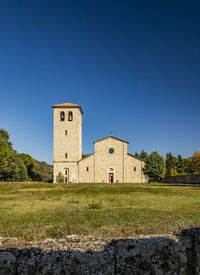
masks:
[[[171,238],[121,239],[101,251],[0,250],[0,274],[200,274],[200,228]]]

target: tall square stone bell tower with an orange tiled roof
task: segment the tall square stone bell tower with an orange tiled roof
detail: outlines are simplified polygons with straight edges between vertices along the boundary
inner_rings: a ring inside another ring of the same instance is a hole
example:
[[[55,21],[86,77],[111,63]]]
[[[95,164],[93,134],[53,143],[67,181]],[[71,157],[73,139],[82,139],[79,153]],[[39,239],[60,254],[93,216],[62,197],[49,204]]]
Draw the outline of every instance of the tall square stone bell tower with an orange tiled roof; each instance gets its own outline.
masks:
[[[61,172],[65,182],[78,182],[78,161],[82,159],[81,106],[63,103],[52,106],[53,123],[53,178]]]

